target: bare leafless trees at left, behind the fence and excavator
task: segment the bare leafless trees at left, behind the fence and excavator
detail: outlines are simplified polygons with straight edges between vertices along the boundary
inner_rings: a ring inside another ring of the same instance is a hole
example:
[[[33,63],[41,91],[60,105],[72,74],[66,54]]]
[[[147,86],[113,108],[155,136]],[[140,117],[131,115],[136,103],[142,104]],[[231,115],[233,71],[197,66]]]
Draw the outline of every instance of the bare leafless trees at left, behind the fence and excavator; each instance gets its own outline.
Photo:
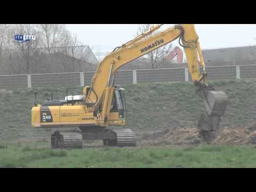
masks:
[[[35,35],[17,43],[15,35]],[[0,71],[3,74],[65,73],[95,68],[86,46],[62,24],[0,24]]]

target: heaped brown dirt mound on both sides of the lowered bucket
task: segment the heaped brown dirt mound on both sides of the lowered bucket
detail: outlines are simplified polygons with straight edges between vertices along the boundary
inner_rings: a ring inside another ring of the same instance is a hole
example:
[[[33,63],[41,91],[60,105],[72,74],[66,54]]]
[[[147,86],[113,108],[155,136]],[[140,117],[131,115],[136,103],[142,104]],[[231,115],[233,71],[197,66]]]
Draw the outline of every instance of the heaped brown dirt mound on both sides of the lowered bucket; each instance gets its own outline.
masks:
[[[198,145],[203,144],[197,128],[166,129],[148,138],[148,145]],[[223,127],[217,132],[215,145],[256,145],[256,121],[241,127]]]

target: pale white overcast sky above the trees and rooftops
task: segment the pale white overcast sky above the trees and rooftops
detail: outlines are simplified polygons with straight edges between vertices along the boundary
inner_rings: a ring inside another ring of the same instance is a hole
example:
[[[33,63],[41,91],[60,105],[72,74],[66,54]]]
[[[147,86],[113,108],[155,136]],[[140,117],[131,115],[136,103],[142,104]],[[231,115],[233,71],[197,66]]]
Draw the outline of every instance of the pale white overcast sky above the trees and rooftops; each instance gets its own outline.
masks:
[[[170,26],[173,24],[165,24],[161,29]],[[138,24],[69,24],[67,28],[97,53],[112,51],[133,39]],[[256,45],[255,24],[196,24],[196,31],[202,49]]]

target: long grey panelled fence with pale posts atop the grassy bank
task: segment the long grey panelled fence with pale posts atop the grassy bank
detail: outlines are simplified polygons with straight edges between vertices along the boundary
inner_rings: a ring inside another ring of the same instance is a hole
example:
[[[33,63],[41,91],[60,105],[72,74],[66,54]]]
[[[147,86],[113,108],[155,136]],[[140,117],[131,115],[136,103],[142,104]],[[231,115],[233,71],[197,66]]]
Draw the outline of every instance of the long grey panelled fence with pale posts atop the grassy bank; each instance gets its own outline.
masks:
[[[209,79],[255,78],[256,65],[206,67]],[[90,85],[94,72],[54,73],[29,75],[0,75],[0,89],[31,88],[40,86]],[[188,68],[120,70],[116,84],[191,81]]]

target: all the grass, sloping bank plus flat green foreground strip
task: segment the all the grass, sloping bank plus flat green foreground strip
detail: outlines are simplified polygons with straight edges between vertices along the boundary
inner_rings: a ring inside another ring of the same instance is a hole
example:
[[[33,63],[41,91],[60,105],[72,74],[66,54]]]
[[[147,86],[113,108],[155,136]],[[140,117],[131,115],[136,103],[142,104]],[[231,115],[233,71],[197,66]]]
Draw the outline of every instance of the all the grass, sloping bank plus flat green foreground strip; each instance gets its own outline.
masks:
[[[229,105],[221,127],[241,126],[256,119],[256,79],[216,81]],[[127,128],[148,132],[172,127],[196,127],[203,102],[188,82],[125,85]],[[50,130],[32,129],[30,110],[46,98],[81,94],[82,87],[42,87],[0,90],[0,167],[256,167],[250,146],[50,149]],[[6,131],[5,131],[6,130]],[[7,149],[3,143],[7,142]],[[28,145],[26,143],[29,143]]]

